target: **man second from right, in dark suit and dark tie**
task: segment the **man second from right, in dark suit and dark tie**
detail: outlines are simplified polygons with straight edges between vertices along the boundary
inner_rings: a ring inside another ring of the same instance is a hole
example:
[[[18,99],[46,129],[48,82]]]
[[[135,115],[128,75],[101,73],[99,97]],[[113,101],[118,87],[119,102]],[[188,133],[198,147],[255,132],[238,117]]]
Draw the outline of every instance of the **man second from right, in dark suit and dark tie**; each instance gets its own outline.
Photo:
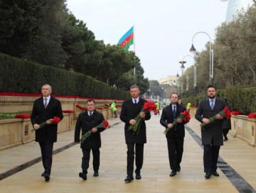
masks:
[[[160,123],[164,128],[171,128],[166,134],[167,147],[169,153],[169,162],[171,167],[170,176],[175,176],[176,172],[181,171],[181,159],[183,154],[183,143],[185,137],[184,123],[181,118],[178,118],[178,124],[174,126],[171,124],[174,119],[186,111],[186,107],[178,104],[178,94],[171,94],[171,104],[164,107],[161,114]]]

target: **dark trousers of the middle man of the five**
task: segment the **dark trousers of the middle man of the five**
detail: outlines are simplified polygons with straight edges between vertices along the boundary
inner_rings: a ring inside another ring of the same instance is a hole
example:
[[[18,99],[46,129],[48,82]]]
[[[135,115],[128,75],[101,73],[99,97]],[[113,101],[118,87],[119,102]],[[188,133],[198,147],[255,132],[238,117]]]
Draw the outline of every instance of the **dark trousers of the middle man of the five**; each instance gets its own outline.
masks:
[[[144,143],[127,143],[127,175],[132,176],[134,171],[134,146],[136,174],[140,174],[143,165]]]

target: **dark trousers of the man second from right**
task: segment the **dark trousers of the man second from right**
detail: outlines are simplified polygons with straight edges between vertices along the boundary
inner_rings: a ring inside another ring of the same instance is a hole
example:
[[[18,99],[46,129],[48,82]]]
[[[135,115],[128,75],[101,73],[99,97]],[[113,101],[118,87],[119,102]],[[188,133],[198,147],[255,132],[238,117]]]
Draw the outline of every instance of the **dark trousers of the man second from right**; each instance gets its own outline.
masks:
[[[167,138],[169,163],[171,170],[177,171],[183,155],[184,138]]]

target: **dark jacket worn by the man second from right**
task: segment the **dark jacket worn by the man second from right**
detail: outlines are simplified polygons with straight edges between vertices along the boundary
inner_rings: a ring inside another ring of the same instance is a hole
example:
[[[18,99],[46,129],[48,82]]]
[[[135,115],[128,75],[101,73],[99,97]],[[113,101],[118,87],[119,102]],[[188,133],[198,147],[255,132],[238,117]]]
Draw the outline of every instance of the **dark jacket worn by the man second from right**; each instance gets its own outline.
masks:
[[[176,116],[177,118],[181,112],[186,111],[186,107],[183,105],[176,104]],[[161,119],[160,123],[164,128],[167,128],[169,123],[174,122],[174,114],[172,111],[172,104],[169,106],[164,107],[162,114],[161,114]],[[184,138],[185,137],[185,128],[184,128],[184,123],[178,123],[176,126],[171,128],[171,130],[167,133],[166,138]]]

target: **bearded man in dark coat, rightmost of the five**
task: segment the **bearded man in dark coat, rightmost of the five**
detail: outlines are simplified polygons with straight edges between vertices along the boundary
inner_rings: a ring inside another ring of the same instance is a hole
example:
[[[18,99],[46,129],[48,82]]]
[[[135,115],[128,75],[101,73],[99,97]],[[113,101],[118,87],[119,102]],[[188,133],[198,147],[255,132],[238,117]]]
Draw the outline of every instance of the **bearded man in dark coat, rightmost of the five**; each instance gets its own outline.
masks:
[[[227,104],[223,99],[216,98],[216,88],[213,85],[208,86],[207,99],[200,101],[196,111],[196,119],[207,125],[201,129],[203,143],[203,166],[206,172],[206,179],[211,175],[219,176],[217,172],[218,155],[220,145],[223,145],[223,116],[218,114]],[[216,115],[217,114],[217,115]],[[217,120],[210,124],[210,118],[215,116]]]

